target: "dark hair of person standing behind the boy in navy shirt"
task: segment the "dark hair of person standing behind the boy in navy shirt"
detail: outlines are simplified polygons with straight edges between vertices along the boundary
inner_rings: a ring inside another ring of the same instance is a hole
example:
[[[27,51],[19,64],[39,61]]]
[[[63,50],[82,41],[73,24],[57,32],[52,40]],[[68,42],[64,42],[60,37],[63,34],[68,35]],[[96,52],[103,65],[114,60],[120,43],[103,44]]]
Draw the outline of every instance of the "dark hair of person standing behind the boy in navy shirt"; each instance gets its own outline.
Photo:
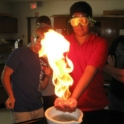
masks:
[[[51,25],[51,20],[48,16],[42,15],[36,19],[36,24],[38,23],[39,24],[45,23],[45,24]]]

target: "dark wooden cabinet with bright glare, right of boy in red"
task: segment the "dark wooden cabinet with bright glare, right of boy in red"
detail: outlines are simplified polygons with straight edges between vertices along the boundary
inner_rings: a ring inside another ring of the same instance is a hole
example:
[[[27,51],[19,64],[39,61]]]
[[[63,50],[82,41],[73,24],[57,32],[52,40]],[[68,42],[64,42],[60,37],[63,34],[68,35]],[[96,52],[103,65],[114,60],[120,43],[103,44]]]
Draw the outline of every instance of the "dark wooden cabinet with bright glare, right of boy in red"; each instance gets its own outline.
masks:
[[[101,36],[109,42],[109,47],[113,41],[119,37],[120,31],[124,31],[124,18],[121,17],[104,17],[102,19]]]

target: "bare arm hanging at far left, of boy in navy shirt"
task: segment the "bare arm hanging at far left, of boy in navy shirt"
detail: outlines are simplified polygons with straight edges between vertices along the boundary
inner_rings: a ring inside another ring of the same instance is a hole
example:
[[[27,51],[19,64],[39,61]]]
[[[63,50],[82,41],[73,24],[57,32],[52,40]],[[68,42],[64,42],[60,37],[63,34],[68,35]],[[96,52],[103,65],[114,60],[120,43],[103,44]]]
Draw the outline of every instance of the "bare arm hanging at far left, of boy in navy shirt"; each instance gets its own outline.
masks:
[[[15,103],[15,98],[13,95],[12,85],[11,85],[11,81],[10,81],[10,76],[12,73],[13,73],[13,69],[11,69],[8,66],[5,66],[4,70],[2,72],[2,75],[1,75],[3,87],[5,88],[5,90],[8,94],[8,99],[6,100],[6,103],[5,103],[6,107],[8,109],[13,109],[14,103]]]

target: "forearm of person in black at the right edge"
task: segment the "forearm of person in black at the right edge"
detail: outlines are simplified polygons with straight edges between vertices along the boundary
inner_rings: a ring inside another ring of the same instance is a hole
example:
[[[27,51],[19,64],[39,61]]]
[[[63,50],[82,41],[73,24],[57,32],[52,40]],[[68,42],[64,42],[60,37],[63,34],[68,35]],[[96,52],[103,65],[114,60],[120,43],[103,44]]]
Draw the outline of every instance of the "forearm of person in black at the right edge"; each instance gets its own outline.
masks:
[[[112,77],[117,79],[118,81],[124,83],[124,69],[119,69],[109,64],[105,65],[104,72],[110,74]]]

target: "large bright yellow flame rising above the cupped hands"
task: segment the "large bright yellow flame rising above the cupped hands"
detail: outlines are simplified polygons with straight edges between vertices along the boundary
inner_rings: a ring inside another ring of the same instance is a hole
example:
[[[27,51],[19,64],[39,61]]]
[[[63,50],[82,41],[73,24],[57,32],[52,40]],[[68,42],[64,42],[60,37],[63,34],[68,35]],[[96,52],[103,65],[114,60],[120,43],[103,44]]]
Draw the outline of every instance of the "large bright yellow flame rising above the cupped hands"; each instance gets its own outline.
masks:
[[[70,44],[61,34],[50,29],[45,33],[41,45],[39,56],[46,56],[53,70],[52,81],[55,85],[55,94],[68,99],[71,95],[69,86],[73,84],[69,74],[73,70],[73,63],[67,56]]]

